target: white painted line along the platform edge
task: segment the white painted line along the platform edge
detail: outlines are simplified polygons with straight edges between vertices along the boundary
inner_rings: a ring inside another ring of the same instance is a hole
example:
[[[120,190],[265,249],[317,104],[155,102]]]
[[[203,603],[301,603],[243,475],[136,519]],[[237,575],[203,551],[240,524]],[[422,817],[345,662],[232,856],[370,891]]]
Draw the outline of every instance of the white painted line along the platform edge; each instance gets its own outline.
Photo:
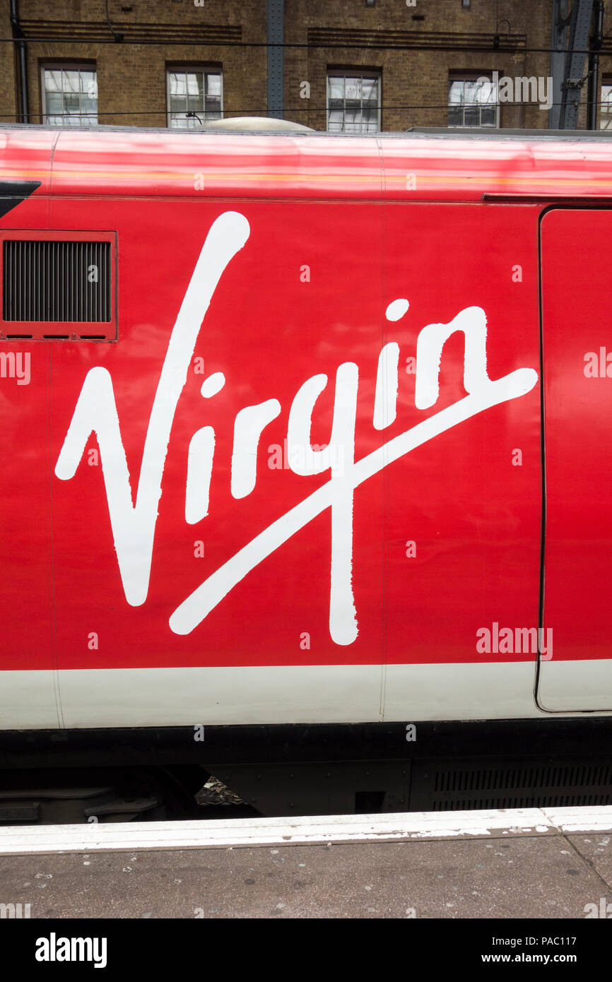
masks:
[[[0,828],[0,855],[321,846],[612,832],[612,805]]]

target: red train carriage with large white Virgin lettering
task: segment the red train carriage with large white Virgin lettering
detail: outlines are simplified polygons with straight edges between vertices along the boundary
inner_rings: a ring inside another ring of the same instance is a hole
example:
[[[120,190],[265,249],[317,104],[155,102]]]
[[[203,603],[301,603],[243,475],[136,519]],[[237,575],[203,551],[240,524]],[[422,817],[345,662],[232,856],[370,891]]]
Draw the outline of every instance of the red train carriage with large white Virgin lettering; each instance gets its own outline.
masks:
[[[0,145],[6,768],[605,770],[609,139]]]

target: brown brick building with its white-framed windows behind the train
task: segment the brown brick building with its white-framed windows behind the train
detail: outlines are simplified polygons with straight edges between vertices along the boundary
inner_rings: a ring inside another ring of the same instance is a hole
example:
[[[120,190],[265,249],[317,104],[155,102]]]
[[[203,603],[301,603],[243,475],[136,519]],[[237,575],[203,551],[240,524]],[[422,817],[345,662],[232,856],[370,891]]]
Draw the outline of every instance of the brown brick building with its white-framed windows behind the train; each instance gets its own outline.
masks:
[[[27,110],[49,125],[277,115],[348,132],[546,128],[545,88],[503,101],[476,80],[497,72],[545,86],[551,23],[551,0],[1,0],[0,114],[23,122]],[[605,43],[598,125],[612,98]]]

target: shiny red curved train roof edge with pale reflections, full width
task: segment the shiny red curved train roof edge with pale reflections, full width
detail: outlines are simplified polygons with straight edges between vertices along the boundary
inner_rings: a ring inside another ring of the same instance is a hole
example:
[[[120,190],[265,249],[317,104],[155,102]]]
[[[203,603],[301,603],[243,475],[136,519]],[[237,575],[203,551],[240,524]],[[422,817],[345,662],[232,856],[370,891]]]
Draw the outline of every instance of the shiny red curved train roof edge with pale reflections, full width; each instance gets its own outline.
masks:
[[[272,122],[272,121],[268,121]],[[283,121],[279,121],[282,123]],[[605,131],[0,127],[2,182],[79,196],[588,202],[612,197]]]

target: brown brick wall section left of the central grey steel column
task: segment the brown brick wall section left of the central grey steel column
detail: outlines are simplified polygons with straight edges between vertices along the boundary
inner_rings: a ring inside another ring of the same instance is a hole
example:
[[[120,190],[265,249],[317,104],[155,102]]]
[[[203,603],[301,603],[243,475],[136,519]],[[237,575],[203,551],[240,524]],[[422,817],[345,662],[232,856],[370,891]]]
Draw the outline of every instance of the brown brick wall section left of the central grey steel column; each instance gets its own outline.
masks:
[[[168,63],[221,65],[224,116],[243,115],[248,108],[253,111],[251,115],[266,115],[264,47],[245,49],[191,42],[195,31],[210,26],[242,27],[243,41],[265,41],[265,2],[204,0],[203,6],[196,6],[194,0],[110,0],[109,15],[114,30],[124,33],[126,40],[145,33],[160,43],[113,42],[100,0],[21,0],[20,17],[27,34],[36,25],[38,36],[64,30],[67,35],[86,32],[107,41],[68,43],[61,37],[53,41],[28,40],[31,122],[40,122],[40,69],[50,61],[95,61],[100,123],[165,127]],[[4,36],[9,35],[7,28]],[[173,44],[179,37],[188,43]],[[8,89],[5,86],[0,76],[0,104],[5,104],[9,96],[10,85]]]

